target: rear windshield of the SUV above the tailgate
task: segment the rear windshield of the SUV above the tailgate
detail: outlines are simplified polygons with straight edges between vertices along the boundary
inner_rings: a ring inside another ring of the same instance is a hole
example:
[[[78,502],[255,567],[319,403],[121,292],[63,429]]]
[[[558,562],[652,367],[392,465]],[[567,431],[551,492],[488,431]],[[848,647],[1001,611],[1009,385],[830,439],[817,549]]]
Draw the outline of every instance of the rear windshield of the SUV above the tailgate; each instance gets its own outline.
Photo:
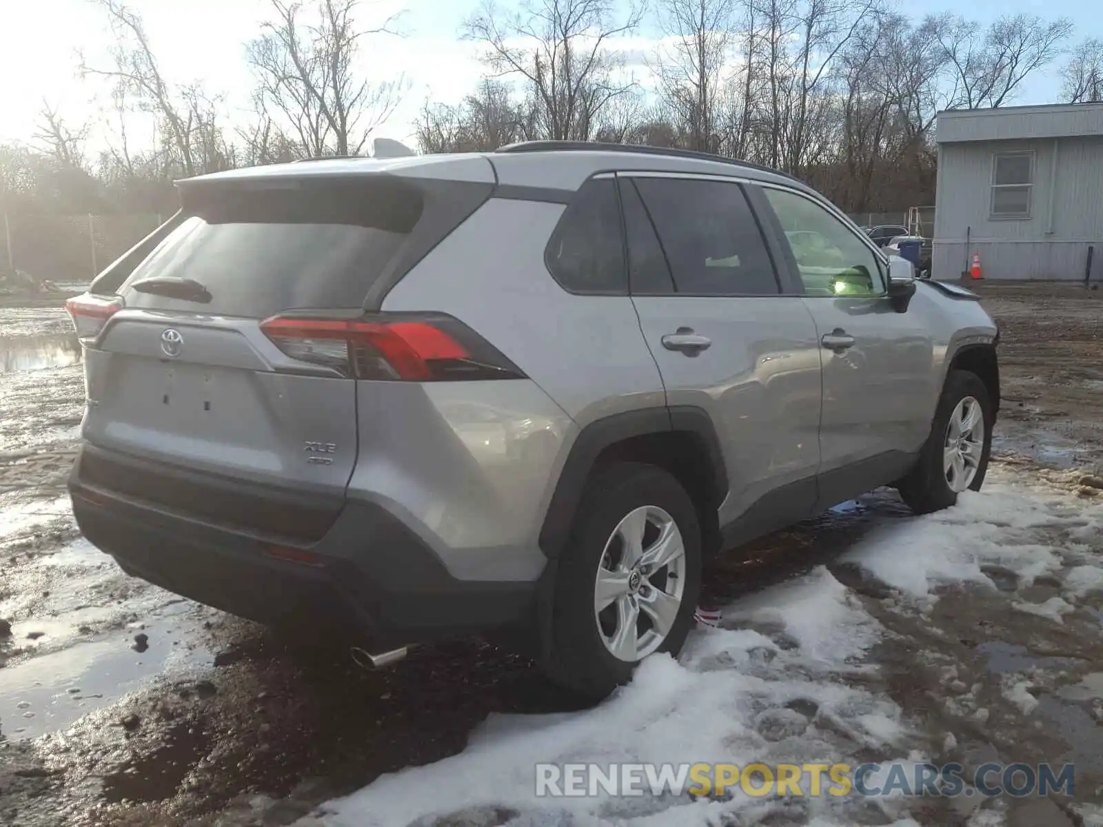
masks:
[[[184,191],[183,210],[183,223],[121,286],[127,307],[254,318],[362,307],[417,228],[424,203],[418,189],[396,180],[277,182],[195,186]],[[135,289],[150,279],[196,281],[210,300]]]

